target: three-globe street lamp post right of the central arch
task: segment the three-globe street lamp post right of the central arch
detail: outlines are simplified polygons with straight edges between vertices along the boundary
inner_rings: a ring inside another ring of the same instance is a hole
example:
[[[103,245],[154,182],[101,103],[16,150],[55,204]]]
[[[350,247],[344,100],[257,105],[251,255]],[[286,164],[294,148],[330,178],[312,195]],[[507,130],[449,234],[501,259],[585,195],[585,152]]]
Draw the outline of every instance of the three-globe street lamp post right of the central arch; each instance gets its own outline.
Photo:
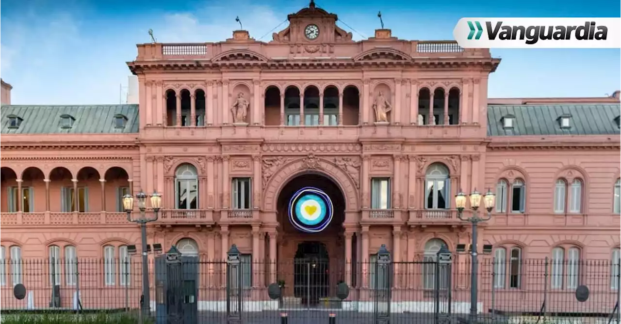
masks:
[[[477,225],[479,222],[489,221],[492,217],[492,208],[494,208],[494,200],[496,195],[494,195],[490,190],[487,190],[485,196],[483,196],[484,206],[487,210],[487,217],[479,217],[479,206],[481,206],[481,193],[479,191],[474,191],[470,194],[470,208],[473,213],[470,217],[464,217],[463,211],[466,208],[466,199],[468,197],[463,193],[459,192],[455,196],[455,207],[457,208],[457,217],[461,221],[470,222],[472,224],[472,243],[470,248],[471,259],[471,273],[470,273],[470,323],[476,323],[477,320],[477,303],[478,303],[478,250],[476,247],[477,241]]]

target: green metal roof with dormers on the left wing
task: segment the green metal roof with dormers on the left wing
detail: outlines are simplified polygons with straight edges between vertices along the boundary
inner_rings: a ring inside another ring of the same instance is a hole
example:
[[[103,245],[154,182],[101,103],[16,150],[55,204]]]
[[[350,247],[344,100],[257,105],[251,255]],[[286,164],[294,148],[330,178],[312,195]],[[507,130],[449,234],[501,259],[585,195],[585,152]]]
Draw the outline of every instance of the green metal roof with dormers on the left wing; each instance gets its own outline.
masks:
[[[74,118],[63,128],[63,118]],[[116,128],[116,116],[125,116],[124,128]],[[21,119],[11,128],[11,116]],[[138,105],[27,106],[0,105],[0,134],[128,134],[138,133]]]

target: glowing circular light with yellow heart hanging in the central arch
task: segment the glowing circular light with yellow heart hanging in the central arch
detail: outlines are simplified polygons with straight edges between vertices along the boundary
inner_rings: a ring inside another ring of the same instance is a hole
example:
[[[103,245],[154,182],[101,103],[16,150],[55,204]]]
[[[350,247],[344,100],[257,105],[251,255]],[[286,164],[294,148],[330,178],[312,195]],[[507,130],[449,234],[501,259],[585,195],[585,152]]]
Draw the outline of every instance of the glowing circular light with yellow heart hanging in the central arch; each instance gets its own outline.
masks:
[[[330,225],[333,212],[330,197],[311,186],[296,191],[289,200],[289,222],[302,232],[321,232]]]

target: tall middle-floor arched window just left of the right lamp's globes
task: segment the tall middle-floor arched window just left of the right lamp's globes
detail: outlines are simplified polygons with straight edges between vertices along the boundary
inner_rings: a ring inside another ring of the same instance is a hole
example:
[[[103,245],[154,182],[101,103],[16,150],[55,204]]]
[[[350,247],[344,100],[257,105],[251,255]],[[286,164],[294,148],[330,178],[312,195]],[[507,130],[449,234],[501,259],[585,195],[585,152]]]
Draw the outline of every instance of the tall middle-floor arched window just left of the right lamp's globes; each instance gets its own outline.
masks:
[[[425,175],[425,206],[427,209],[450,208],[450,181],[448,169],[440,163],[432,164]]]

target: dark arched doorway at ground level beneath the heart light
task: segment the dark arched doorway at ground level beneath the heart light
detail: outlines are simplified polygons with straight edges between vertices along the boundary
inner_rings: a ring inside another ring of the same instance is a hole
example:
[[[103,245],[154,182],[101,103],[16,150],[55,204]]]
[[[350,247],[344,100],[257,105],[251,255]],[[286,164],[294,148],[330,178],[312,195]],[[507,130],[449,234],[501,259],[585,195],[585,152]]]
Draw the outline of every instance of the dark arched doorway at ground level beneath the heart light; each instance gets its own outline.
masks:
[[[302,242],[297,245],[294,260],[294,296],[303,305],[318,306],[330,291],[330,259],[321,242]]]

